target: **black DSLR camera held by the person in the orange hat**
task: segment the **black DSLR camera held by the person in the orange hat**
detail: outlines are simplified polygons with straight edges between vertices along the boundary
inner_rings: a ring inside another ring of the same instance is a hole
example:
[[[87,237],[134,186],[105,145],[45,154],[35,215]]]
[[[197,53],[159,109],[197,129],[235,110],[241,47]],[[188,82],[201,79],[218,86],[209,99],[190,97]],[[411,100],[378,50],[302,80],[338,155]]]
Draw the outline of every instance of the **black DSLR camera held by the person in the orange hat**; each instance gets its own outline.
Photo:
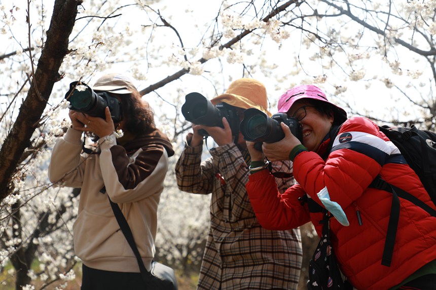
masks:
[[[226,117],[232,129],[232,135],[239,133],[239,117],[236,113],[236,107],[227,103],[219,103],[214,106],[208,99],[200,93],[189,93],[185,97],[185,104],[181,106],[181,113],[187,121],[196,125],[204,125],[209,127],[223,126],[223,117]],[[209,134],[200,130],[203,136]]]

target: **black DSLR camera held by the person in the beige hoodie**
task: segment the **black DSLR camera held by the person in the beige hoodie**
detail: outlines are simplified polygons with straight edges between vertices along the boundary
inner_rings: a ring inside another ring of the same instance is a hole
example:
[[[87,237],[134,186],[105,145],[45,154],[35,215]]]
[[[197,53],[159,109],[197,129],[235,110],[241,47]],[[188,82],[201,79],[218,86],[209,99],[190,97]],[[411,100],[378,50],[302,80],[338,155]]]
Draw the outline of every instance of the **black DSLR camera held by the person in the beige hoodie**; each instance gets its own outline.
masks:
[[[85,86],[86,90],[77,90],[77,85]],[[69,90],[65,94],[65,99],[67,98],[69,101],[69,109],[71,110],[104,119],[106,117],[104,114],[104,109],[109,107],[114,123],[118,123],[122,120],[121,102],[117,98],[110,96],[107,92],[94,92],[94,90],[92,90],[84,82],[71,82],[71,84],[69,84]]]

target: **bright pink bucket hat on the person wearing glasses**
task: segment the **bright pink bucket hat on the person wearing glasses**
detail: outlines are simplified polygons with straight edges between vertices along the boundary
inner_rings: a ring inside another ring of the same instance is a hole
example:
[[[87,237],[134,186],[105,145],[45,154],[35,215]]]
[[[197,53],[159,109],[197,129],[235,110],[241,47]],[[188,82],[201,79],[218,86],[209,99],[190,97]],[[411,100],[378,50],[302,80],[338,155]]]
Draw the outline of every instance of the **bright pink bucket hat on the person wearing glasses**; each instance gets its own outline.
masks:
[[[342,123],[347,119],[347,113],[341,107],[329,102],[325,97],[324,92],[313,85],[300,85],[289,89],[280,96],[278,100],[277,109],[279,113],[286,113],[292,105],[301,99],[312,99],[327,103],[333,107],[335,113],[335,123]]]

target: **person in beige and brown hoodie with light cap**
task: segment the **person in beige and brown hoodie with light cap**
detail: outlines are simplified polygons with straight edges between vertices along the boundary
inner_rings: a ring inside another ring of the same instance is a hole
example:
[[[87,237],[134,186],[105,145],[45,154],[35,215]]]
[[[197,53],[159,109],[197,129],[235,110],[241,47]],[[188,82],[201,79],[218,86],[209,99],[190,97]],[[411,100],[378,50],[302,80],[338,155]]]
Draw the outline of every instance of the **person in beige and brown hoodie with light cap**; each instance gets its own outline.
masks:
[[[157,209],[174,154],[168,138],[155,127],[151,107],[127,77],[113,73],[92,87],[121,102],[122,120],[114,124],[111,111],[93,117],[70,110],[71,128],[53,148],[49,178],[81,188],[73,226],[75,254],[83,261],[82,290],[143,289],[137,260],[120,230],[109,198],[121,208],[147,270],[154,258]],[[124,135],[117,139],[115,130]],[[82,134],[96,139],[84,153]]]

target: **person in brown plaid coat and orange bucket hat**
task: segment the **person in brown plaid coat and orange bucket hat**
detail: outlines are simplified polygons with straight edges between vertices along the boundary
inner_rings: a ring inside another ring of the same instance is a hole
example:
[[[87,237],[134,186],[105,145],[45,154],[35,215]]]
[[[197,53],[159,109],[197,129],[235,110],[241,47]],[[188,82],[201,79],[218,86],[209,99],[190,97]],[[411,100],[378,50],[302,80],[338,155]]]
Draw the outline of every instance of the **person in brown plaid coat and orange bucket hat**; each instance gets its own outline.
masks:
[[[232,82],[225,94],[211,100],[235,108],[240,120],[244,109],[266,112],[266,89],[261,82],[241,78]],[[177,160],[175,173],[180,190],[212,194],[210,229],[200,269],[198,289],[297,289],[302,263],[300,229],[271,231],[259,224],[245,184],[250,164],[245,141],[232,135],[223,117],[224,129],[193,125],[186,146]],[[203,162],[203,135],[206,130],[217,147]],[[235,134],[236,135],[236,134]],[[263,163],[263,162],[262,162]],[[292,172],[292,162],[272,162],[273,172]],[[294,184],[293,178],[276,178],[281,192]]]

